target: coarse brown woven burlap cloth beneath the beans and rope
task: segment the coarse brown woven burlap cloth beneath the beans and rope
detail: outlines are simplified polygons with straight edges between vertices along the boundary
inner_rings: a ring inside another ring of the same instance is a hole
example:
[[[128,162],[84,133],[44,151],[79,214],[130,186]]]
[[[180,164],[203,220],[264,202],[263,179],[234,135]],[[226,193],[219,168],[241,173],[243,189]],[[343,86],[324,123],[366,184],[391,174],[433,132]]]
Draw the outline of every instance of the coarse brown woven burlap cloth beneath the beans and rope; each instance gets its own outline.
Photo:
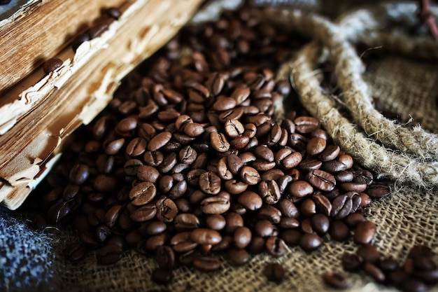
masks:
[[[330,13],[334,15],[332,11]],[[372,96],[379,98],[383,109],[399,113],[402,120],[414,118],[412,123],[421,123],[423,129],[438,132],[436,61],[390,53],[374,60],[361,76]],[[374,201],[365,211],[378,228],[374,244],[381,252],[398,260],[404,260],[415,244],[425,244],[438,252],[437,188],[398,183],[392,190],[390,197]],[[74,235],[68,230],[52,230],[50,237],[62,239],[54,244],[55,254],[60,255],[64,244]],[[245,267],[232,267],[223,260],[219,272],[202,273],[188,267],[176,267],[173,281],[165,287],[150,279],[157,266],[153,256],[141,256],[135,251],[126,251],[122,260],[111,266],[97,265],[94,253],[76,264],[59,256],[50,269],[56,271],[63,291],[328,291],[320,274],[341,272],[341,254],[356,248],[351,241],[326,240],[318,251],[305,253],[299,247],[293,247],[281,258],[261,254],[254,256]],[[262,275],[264,265],[269,262],[285,267],[285,279],[280,284],[269,282]],[[356,274],[352,275],[352,280],[351,291],[395,291]],[[438,288],[432,291],[438,291]]]

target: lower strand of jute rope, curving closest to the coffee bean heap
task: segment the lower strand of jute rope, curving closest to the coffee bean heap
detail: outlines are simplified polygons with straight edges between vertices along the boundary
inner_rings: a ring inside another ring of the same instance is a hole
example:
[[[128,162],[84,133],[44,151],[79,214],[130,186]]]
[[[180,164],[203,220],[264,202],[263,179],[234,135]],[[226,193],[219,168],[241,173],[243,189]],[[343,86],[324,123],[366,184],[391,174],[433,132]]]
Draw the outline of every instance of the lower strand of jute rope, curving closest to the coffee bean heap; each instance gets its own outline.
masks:
[[[336,103],[323,93],[318,78],[313,74],[319,56],[318,43],[305,46],[295,61],[283,64],[278,71],[278,78],[292,78],[292,84],[299,91],[306,109],[320,119],[333,140],[362,165],[376,170],[381,177],[400,183],[414,183],[422,187],[436,185],[438,162],[418,162],[403,153],[376,144],[339,113]]]

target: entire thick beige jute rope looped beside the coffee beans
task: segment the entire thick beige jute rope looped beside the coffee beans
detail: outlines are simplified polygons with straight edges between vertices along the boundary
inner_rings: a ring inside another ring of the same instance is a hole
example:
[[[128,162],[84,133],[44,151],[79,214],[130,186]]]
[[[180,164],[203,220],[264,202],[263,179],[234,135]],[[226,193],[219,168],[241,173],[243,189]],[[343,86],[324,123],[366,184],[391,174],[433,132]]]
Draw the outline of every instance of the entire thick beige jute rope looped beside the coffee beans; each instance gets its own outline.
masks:
[[[414,19],[412,4],[387,4],[376,11],[360,10],[334,24],[318,15],[306,15],[301,11],[267,11],[265,17],[310,34],[319,43],[306,46],[294,62],[284,64],[281,76],[290,76],[308,111],[319,118],[334,141],[344,147],[362,165],[378,172],[379,176],[400,183],[417,186],[438,185],[438,136],[423,130],[395,124],[374,109],[369,86],[362,78],[364,64],[350,41],[367,41],[371,35],[374,43],[398,43],[390,46],[400,53],[421,55],[437,59],[437,43],[424,39],[409,39],[399,32],[375,31],[388,22]],[[386,16],[385,16],[386,15]],[[407,15],[409,18],[407,18]],[[383,21],[386,20],[386,21]],[[413,20],[411,20],[413,21]],[[370,33],[372,32],[372,33]],[[404,43],[402,43],[404,41]],[[424,44],[427,46],[423,47]],[[336,64],[335,71],[344,102],[353,120],[348,120],[337,111],[337,104],[320,88],[314,74],[317,62],[321,62],[320,46],[325,46],[330,59]],[[319,60],[318,60],[319,59]],[[355,123],[353,125],[352,123]],[[361,132],[360,128],[365,131]],[[376,143],[379,140],[381,144]]]

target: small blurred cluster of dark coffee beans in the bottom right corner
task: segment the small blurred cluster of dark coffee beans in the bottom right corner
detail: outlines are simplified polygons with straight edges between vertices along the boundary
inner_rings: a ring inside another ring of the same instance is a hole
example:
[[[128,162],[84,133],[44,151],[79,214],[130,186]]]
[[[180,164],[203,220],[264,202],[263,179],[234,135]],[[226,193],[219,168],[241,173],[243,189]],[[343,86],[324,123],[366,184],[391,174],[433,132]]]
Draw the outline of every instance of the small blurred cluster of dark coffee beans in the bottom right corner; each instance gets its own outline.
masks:
[[[376,247],[365,244],[356,253],[344,253],[342,266],[347,272],[363,271],[374,281],[396,286],[401,291],[423,292],[438,283],[436,255],[428,246],[416,245],[400,264],[395,258],[382,256]],[[346,288],[348,278],[341,274],[324,274],[325,283],[334,288]]]

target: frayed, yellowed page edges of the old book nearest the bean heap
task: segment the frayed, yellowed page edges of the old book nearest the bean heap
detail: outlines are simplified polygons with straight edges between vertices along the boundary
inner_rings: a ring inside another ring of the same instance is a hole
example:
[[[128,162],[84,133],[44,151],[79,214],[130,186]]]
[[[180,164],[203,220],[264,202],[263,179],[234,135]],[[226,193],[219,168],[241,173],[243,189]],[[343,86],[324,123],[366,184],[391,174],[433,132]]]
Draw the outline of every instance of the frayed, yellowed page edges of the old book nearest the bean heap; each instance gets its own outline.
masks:
[[[28,127],[33,126],[35,134],[0,167],[0,200],[3,197],[6,207],[16,209],[22,204],[48,173],[65,138],[81,124],[90,123],[111,101],[120,80],[169,41],[201,3],[201,0],[136,1],[125,8],[118,27],[115,27],[118,22],[113,22],[101,37],[83,43],[71,63],[64,62],[52,76],[43,78],[48,88],[43,86],[36,92],[36,95],[44,92],[41,102],[31,115],[24,116],[16,127],[0,137],[0,142],[9,139],[8,136],[21,137],[22,141],[10,142],[14,147],[28,140],[23,137]],[[120,36],[125,36],[122,42]],[[57,81],[57,86],[48,83],[54,76],[53,83]],[[37,127],[32,125],[36,120]],[[18,126],[21,130],[15,130]],[[1,153],[15,150],[8,147],[8,151],[0,149]]]

